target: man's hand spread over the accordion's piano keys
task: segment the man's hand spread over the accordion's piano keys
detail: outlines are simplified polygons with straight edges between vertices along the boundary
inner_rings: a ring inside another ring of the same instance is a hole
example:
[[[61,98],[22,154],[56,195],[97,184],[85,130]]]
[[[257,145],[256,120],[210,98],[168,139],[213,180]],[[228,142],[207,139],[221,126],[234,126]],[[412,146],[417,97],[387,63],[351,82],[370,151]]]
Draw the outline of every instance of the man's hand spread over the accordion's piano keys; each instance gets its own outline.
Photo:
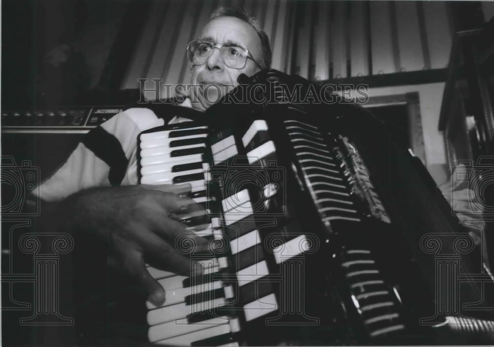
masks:
[[[176,237],[190,232],[196,245],[206,245],[205,239],[186,231],[177,220],[181,214],[202,209],[186,196],[190,189],[190,185],[94,188],[63,203],[77,211],[66,211],[74,216],[69,227],[105,240],[112,252],[109,264],[129,274],[146,289],[153,304],[161,305],[165,291],[149,274],[145,259],[163,270],[190,274],[190,259],[174,247]]]

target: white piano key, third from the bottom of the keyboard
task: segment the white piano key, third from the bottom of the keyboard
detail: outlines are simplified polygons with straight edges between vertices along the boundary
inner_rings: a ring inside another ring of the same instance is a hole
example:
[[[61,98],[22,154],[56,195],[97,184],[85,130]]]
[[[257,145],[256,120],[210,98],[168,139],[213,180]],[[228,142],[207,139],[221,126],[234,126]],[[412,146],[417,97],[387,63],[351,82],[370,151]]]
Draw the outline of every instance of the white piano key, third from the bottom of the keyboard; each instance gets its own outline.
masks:
[[[185,318],[191,313],[206,311],[223,305],[225,305],[225,299],[217,298],[194,305],[186,305],[185,303],[180,303],[162,308],[156,308],[148,312],[147,322],[151,326],[171,322],[175,319]]]

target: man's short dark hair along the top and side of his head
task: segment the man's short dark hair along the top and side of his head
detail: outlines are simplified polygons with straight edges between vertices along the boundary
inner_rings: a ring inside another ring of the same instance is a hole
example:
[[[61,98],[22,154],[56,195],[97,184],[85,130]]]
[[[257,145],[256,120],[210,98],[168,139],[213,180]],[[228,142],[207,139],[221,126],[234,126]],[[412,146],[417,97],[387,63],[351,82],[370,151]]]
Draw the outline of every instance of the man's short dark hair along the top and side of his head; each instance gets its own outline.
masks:
[[[257,19],[247,14],[247,11],[241,7],[226,7],[219,6],[216,8],[209,17],[209,20],[216,19],[218,17],[237,17],[244,22],[247,22],[259,35],[259,39],[261,39],[261,51],[262,51],[262,61],[259,62],[259,65],[263,69],[269,69],[271,67],[271,47],[269,46],[269,38],[266,33],[261,29],[261,26]]]

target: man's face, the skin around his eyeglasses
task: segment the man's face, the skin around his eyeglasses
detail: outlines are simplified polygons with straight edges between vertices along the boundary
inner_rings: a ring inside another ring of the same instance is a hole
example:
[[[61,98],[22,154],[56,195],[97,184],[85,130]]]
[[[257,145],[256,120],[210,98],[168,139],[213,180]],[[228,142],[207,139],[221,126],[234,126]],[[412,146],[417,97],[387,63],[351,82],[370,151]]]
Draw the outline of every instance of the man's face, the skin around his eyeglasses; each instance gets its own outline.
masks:
[[[219,17],[207,23],[201,32],[201,39],[210,39],[216,43],[231,41],[247,48],[253,58],[261,60],[261,40],[257,32],[249,24],[236,17]],[[238,85],[237,78],[241,74],[252,76],[259,71],[258,66],[247,59],[243,69],[233,69],[225,65],[220,50],[213,48],[211,55],[202,65],[192,65],[193,85],[200,87],[191,90],[192,106],[206,110]],[[206,87],[206,85],[214,85]]]

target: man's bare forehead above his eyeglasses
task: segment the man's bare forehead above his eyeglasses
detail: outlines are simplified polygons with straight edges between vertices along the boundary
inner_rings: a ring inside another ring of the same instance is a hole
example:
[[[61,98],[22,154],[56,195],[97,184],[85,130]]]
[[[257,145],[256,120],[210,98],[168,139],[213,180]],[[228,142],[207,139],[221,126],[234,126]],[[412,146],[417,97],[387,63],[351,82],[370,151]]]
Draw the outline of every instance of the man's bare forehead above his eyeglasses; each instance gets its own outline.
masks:
[[[200,38],[248,45],[257,43],[257,32],[240,18],[224,16],[209,21]]]

